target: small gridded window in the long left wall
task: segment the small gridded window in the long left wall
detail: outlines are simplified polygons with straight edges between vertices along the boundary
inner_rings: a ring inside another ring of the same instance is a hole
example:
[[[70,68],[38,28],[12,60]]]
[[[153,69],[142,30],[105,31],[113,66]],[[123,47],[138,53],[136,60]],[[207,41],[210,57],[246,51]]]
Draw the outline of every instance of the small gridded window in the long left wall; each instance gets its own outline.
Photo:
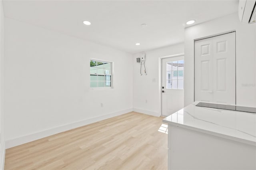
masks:
[[[112,87],[112,63],[90,60],[90,87]]]

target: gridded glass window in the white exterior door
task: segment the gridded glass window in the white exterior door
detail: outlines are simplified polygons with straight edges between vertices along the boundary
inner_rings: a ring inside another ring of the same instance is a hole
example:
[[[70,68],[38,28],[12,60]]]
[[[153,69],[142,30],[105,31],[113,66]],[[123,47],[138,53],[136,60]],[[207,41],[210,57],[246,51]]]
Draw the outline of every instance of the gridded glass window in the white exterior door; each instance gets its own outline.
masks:
[[[166,63],[166,88],[183,89],[184,86],[184,60]]]

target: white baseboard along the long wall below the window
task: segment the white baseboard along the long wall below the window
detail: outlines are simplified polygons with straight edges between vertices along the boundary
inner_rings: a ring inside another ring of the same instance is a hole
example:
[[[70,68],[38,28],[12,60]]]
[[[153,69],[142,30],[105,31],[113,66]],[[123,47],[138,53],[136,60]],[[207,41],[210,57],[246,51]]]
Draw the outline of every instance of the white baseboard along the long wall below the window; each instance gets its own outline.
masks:
[[[36,133],[33,133],[33,134],[20,136],[18,138],[9,139],[9,140],[6,140],[5,147],[6,147],[6,149],[12,148],[12,147],[18,146],[20,144],[24,144],[24,143],[31,142],[31,141],[34,141],[34,140],[38,140],[40,138],[44,138],[46,136],[50,136],[50,135],[53,135],[53,134],[64,132],[66,130],[70,130],[70,129],[73,129],[73,128],[82,127],[84,125],[88,125],[90,123],[102,121],[104,119],[108,119],[108,118],[115,117],[115,116],[118,116],[118,115],[123,115],[123,114],[129,113],[131,111],[133,111],[132,108],[131,109],[125,109],[125,110],[118,111],[118,112],[115,112],[115,113],[110,113],[110,114],[102,115],[102,116],[99,116],[99,117],[93,117],[93,118],[86,119],[86,120],[83,120],[83,121],[78,121],[78,122],[70,123],[70,124],[67,124],[67,125],[62,125],[62,126],[59,126],[59,127],[46,129],[46,130],[36,132]]]

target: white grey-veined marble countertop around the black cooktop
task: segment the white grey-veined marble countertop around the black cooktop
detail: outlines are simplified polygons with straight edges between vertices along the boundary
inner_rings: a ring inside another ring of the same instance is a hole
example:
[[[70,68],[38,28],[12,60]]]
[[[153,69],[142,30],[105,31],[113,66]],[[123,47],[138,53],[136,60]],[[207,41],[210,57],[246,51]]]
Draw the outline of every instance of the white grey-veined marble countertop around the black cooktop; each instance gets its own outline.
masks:
[[[191,103],[163,122],[256,146],[255,113],[198,107],[198,103]]]

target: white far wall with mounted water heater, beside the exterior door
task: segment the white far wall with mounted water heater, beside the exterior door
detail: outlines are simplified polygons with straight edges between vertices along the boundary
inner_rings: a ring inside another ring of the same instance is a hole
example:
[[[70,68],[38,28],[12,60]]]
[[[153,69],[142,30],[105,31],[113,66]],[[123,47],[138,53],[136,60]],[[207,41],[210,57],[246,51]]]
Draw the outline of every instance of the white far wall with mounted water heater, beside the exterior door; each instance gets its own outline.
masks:
[[[133,107],[134,111],[149,115],[160,116],[159,98],[159,57],[184,53],[184,44],[180,43],[152,51],[146,51],[146,70],[148,75],[140,75],[140,63],[136,58],[140,53],[133,56]],[[144,69],[142,69],[143,72]],[[147,102],[146,102],[147,100]]]

